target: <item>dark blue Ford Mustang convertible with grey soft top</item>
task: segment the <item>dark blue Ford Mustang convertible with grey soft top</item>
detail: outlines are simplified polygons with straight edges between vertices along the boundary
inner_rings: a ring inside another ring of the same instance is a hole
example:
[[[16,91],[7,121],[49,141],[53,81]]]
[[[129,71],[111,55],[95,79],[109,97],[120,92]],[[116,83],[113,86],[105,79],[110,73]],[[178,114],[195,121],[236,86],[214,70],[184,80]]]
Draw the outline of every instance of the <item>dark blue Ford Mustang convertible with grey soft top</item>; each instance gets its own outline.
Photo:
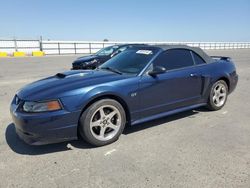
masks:
[[[221,109],[236,87],[230,58],[184,45],[130,48],[96,70],[58,73],[22,88],[11,103],[16,132],[33,145],[116,141],[125,125],[207,106]]]

